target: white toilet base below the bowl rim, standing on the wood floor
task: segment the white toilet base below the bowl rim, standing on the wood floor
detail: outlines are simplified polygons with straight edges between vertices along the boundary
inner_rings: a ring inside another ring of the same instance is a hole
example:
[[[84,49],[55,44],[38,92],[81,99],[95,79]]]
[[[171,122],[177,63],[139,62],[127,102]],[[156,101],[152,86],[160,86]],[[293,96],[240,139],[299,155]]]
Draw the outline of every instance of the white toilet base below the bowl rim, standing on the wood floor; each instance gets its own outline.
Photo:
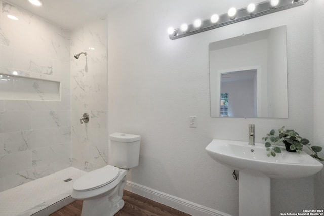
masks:
[[[83,201],[81,216],[113,216],[124,207],[123,189],[126,177],[105,196]]]

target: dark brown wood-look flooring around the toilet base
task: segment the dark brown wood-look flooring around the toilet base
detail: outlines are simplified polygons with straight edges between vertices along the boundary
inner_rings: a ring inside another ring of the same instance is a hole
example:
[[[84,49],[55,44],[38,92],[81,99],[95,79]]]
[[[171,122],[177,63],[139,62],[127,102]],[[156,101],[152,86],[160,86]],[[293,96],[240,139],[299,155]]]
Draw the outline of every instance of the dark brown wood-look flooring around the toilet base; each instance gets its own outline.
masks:
[[[124,207],[116,216],[190,216],[166,205],[124,190]],[[82,201],[74,201],[50,216],[80,216]],[[89,215],[91,216],[91,215]]]

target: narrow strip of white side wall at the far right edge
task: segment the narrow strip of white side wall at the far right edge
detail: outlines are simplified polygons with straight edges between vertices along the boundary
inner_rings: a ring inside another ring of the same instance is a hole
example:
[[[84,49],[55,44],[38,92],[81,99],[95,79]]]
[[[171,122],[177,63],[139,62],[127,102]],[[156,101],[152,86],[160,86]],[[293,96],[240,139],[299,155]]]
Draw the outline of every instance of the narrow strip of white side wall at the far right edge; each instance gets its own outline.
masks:
[[[322,146],[324,128],[324,2],[314,1],[314,144]],[[323,154],[321,154],[323,157]],[[315,208],[324,206],[324,170],[315,176]]]

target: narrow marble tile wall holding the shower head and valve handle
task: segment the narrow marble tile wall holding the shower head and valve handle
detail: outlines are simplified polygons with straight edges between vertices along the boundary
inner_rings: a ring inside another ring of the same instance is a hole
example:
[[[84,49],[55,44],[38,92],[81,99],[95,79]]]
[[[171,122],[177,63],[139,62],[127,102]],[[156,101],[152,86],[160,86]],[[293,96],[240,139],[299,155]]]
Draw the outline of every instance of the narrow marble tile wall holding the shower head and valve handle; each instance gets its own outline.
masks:
[[[71,137],[73,167],[91,171],[107,165],[107,20],[71,32]],[[75,59],[73,55],[87,52]],[[83,113],[89,123],[80,124]]]

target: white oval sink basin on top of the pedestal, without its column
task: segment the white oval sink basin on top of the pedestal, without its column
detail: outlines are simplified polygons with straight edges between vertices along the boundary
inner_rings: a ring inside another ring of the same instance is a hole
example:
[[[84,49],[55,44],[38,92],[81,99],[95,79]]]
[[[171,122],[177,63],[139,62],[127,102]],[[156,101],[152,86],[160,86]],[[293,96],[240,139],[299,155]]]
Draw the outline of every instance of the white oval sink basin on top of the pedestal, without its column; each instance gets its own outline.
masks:
[[[268,157],[264,144],[251,146],[244,141],[216,140],[206,147],[217,162],[236,170],[252,170],[270,178],[299,178],[316,174],[323,164],[308,154],[287,152]]]

